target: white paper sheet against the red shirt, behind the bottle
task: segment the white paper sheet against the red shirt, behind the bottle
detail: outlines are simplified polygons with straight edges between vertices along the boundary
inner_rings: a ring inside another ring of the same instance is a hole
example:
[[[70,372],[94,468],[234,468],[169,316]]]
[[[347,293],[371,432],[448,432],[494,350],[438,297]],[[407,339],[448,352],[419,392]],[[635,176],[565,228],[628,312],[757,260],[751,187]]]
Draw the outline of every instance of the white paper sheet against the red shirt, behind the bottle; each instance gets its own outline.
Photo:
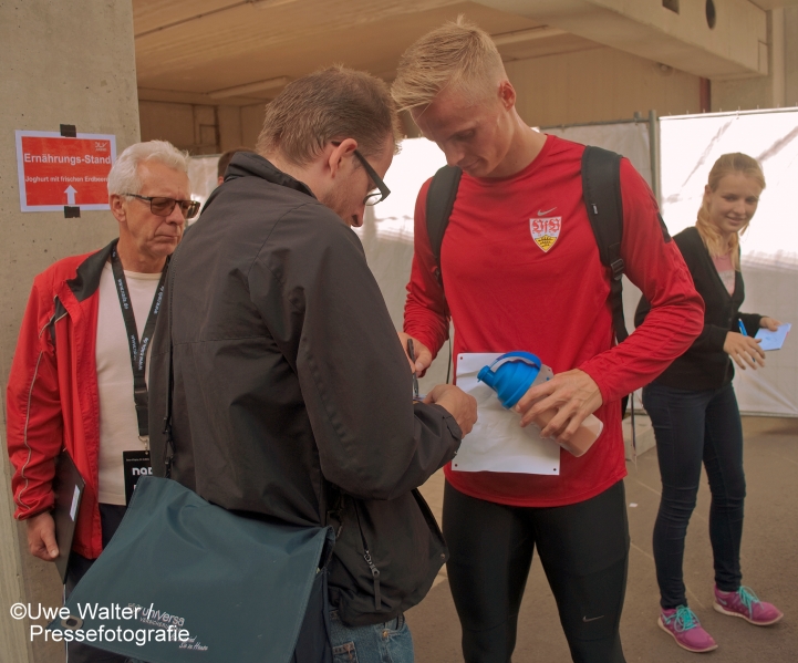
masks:
[[[520,426],[520,416],[505,410],[496,392],[477,380],[483,366],[490,365],[504,352],[457,355],[457,386],[477,400],[478,421],[465,436],[452,462],[457,472],[508,472],[520,474],[560,474],[560,445],[541,439],[532,424]]]

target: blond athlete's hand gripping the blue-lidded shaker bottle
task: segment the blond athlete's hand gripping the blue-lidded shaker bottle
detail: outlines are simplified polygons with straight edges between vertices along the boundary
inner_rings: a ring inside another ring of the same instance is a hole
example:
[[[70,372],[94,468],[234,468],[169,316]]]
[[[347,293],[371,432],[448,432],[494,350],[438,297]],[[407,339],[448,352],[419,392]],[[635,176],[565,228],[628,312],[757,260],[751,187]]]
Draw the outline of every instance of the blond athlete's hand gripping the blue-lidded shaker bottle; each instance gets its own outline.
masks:
[[[584,371],[574,369],[530,387],[514,410],[521,414],[521,426],[528,426],[547,410],[557,410],[540,436],[568,443],[588,415],[593,414],[602,403],[599,385]]]

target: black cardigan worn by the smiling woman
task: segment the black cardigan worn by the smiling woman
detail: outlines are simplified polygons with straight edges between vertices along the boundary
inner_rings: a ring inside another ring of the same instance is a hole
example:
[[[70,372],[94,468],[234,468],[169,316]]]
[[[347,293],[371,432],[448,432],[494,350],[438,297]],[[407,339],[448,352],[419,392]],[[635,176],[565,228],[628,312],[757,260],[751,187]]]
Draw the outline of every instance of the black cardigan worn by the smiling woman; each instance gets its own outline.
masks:
[[[748,335],[753,336],[759,329],[761,315],[739,312],[745,299],[743,274],[736,273],[734,294],[729,294],[694,226],[673,239],[687,263],[695,289],[704,299],[704,331],[654,382],[691,391],[719,389],[734,377],[732,358],[723,351],[726,333],[739,332],[738,321],[742,320]],[[635,327],[642,324],[650,310],[645,297],[641,298],[634,314]]]

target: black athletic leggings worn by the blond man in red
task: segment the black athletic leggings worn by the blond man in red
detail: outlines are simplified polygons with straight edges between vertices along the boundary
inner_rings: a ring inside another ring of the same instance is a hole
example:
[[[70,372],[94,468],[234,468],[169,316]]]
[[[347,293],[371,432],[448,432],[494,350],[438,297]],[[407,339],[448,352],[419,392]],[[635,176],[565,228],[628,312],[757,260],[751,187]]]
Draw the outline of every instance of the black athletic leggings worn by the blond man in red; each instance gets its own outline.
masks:
[[[510,507],[448,483],[444,536],[466,663],[508,663],[537,547],[574,663],[624,663],[629,522],[623,481],[564,507]]]

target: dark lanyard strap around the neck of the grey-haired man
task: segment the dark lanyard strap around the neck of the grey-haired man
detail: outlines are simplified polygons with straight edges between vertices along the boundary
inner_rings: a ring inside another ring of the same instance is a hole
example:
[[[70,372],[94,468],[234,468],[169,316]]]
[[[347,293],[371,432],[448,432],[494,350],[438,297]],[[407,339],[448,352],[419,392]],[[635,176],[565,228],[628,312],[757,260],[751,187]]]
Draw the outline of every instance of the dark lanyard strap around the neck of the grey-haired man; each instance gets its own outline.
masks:
[[[166,282],[166,266],[160,272],[160,280],[155,290],[153,305],[149,309],[147,322],[144,324],[142,338],[138,338],[138,329],[136,328],[136,318],[133,314],[133,302],[131,301],[129,290],[127,288],[127,279],[125,271],[122,269],[122,261],[116,252],[116,245],[111,251],[111,269],[114,272],[114,283],[116,283],[116,293],[120,296],[120,305],[122,307],[122,318],[125,321],[125,330],[127,332],[127,344],[131,348],[131,365],[133,367],[133,401],[136,404],[136,418],[138,419],[138,437],[142,442],[149,435],[149,407],[147,395],[147,348],[153,340],[155,331],[155,321],[160,310],[160,301],[164,298],[164,283]]]

